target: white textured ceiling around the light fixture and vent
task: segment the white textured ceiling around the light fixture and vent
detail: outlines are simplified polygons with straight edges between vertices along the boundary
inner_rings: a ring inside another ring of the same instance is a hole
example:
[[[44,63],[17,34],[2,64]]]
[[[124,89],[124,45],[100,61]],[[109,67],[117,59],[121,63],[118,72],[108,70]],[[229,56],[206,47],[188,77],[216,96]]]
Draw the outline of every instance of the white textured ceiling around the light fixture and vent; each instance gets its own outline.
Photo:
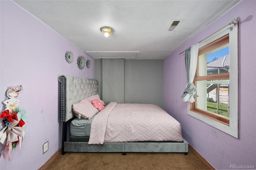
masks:
[[[239,0],[13,0],[94,58],[163,59]],[[166,29],[181,19],[174,31]],[[231,22],[231,21],[230,21]],[[114,28],[106,38],[102,26]],[[69,49],[67,49],[69,50]],[[90,51],[90,52],[89,52]]]

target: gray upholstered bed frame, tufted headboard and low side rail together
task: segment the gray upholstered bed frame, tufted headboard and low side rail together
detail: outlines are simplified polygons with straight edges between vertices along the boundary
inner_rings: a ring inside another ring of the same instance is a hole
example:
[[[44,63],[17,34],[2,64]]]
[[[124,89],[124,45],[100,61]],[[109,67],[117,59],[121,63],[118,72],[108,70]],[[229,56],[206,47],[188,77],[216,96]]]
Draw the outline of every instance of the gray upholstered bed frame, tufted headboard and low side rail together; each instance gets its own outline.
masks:
[[[67,125],[75,117],[72,105],[98,93],[98,81],[62,75],[60,82],[60,113],[62,121],[62,155],[66,152],[181,152],[188,153],[188,142],[104,142],[88,144],[89,136],[70,136]]]

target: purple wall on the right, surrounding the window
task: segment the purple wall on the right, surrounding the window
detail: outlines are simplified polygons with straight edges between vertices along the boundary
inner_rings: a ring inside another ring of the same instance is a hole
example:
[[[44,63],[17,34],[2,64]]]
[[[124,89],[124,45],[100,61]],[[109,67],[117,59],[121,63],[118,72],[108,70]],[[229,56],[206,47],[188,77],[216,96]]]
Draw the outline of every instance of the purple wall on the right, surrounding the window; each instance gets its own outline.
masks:
[[[186,87],[184,49],[210,36],[235,17],[241,18],[239,31],[239,138],[234,138],[187,115],[187,103],[180,99]],[[182,126],[183,137],[214,168],[230,169],[230,164],[256,168],[256,1],[242,1],[208,28],[164,59],[164,109]]]

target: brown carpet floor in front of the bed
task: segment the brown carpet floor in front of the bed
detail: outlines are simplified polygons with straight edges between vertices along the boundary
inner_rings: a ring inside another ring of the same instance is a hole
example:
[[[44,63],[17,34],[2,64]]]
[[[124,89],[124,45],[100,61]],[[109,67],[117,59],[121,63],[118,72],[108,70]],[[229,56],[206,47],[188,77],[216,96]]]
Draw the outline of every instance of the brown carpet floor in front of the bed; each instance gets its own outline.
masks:
[[[206,170],[192,151],[183,153],[91,153],[58,155],[46,170]]]

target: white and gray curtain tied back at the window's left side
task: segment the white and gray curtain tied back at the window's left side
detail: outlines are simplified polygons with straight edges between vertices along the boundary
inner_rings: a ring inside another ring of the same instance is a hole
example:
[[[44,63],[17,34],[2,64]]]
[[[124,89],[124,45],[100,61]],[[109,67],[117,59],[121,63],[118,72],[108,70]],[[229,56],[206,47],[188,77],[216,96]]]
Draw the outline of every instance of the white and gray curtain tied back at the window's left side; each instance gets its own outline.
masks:
[[[184,51],[186,72],[187,72],[187,83],[188,83],[186,85],[186,89],[184,90],[181,96],[181,99],[184,102],[193,103],[195,101],[194,97],[198,97],[196,95],[196,87],[193,84],[195,73],[196,73],[198,47],[199,47],[199,43],[196,43]]]

